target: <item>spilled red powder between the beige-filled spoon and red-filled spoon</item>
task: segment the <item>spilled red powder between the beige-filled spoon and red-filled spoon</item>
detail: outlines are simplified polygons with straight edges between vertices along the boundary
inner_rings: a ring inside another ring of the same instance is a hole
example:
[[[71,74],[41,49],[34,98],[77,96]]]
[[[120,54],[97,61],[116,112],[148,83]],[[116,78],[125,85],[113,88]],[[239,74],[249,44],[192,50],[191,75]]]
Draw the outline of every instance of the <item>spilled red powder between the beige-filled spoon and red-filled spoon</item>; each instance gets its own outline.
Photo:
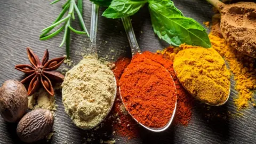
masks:
[[[115,131],[117,135],[129,137],[129,139],[131,139],[138,137],[138,124],[125,110],[119,94],[119,79],[129,63],[129,58],[121,58],[115,62],[115,69],[113,69],[113,73],[116,77],[118,91],[116,93],[116,101],[111,111],[111,115],[115,118],[113,119],[113,131]]]

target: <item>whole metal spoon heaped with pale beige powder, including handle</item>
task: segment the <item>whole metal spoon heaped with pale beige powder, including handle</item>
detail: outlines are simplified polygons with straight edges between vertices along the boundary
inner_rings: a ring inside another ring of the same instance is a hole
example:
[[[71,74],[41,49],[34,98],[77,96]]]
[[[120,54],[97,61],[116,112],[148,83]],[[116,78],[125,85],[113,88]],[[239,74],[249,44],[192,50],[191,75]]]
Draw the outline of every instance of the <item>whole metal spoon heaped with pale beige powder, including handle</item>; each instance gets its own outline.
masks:
[[[93,4],[90,55],[67,71],[62,83],[62,102],[73,123],[89,130],[109,114],[116,98],[116,79],[110,68],[98,60],[96,34],[99,6]]]

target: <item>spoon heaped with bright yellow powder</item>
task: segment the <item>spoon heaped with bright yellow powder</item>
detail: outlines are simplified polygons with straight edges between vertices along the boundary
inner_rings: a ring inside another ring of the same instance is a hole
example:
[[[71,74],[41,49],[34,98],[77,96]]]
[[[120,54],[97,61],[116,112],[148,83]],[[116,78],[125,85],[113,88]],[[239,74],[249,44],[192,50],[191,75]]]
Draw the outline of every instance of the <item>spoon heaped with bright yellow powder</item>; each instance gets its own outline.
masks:
[[[230,72],[214,49],[185,49],[176,55],[173,67],[183,87],[210,106],[224,105],[230,94]]]

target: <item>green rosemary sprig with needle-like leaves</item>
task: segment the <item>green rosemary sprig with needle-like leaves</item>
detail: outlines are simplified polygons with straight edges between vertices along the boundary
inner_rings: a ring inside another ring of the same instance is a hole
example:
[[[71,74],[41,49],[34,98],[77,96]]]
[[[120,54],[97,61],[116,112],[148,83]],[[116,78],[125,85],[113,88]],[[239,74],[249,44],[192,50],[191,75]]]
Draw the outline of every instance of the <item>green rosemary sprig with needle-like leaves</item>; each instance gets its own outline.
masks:
[[[55,0],[53,1],[51,4],[57,3],[60,0]],[[56,18],[56,20],[53,22],[53,24],[47,28],[44,28],[43,34],[40,35],[40,40],[44,41],[46,39],[52,38],[55,35],[58,35],[60,33],[60,31],[62,31],[63,29],[65,30],[64,35],[63,35],[63,39],[62,42],[60,44],[60,47],[66,42],[66,53],[67,53],[67,58],[69,58],[69,50],[70,50],[70,31],[73,31],[76,34],[79,35],[87,35],[89,36],[89,33],[85,27],[84,24],[84,20],[82,17],[82,13],[83,13],[83,3],[81,0],[77,1],[77,4],[75,2],[75,0],[68,0],[63,6],[62,6],[62,11],[60,12],[59,16]],[[68,11],[68,14],[65,18],[62,18],[63,15]],[[73,27],[71,27],[70,23],[72,20],[75,19],[75,13],[78,16],[78,20],[79,23],[81,25],[81,29],[80,30],[76,30]],[[59,26],[60,23],[64,23],[63,26],[61,26],[59,29],[55,30],[53,33],[49,34],[50,31],[56,27]]]

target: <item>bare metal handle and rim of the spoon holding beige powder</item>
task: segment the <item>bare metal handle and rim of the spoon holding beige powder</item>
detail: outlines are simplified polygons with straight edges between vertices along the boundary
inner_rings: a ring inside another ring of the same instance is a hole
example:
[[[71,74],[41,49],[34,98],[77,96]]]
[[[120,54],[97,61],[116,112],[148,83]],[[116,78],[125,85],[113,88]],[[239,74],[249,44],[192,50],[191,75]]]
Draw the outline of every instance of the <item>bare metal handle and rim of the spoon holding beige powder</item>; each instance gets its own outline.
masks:
[[[99,17],[99,5],[97,4],[92,4],[92,15],[91,15],[91,29],[90,29],[90,52],[89,54],[91,55],[95,55],[95,58],[98,59],[98,54],[97,54],[97,45],[96,45],[96,37],[97,37],[97,28],[98,28],[98,17]],[[114,76],[114,74],[113,74]],[[97,127],[101,122],[103,122],[105,120],[105,118],[108,116],[108,114],[110,113],[111,109],[114,106],[114,102],[116,99],[116,92],[117,92],[117,86],[116,86],[116,78],[114,76],[114,80],[115,80],[115,94],[111,103],[110,108],[108,109],[108,113],[106,114],[106,116],[95,126],[90,127],[88,129],[83,129],[83,130],[91,130],[94,129],[95,127]],[[63,91],[62,91],[63,92]],[[79,127],[81,128],[81,127]],[[82,128],[81,128],[82,129]]]

